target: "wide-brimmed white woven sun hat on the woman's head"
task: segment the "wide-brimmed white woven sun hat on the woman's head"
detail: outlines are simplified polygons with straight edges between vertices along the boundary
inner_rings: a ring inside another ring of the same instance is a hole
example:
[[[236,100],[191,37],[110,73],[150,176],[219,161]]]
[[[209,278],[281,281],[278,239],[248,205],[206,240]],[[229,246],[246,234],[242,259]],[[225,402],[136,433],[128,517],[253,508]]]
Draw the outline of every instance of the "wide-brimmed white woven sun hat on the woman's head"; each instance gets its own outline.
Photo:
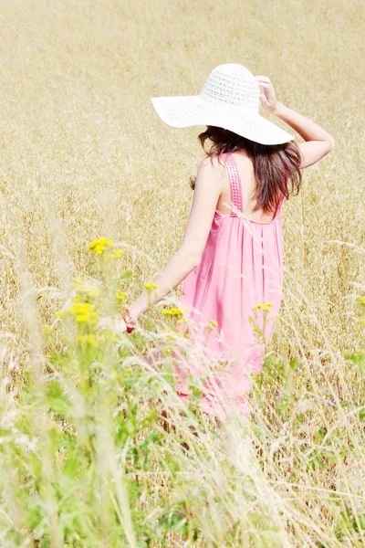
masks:
[[[173,128],[217,126],[262,144],[294,139],[260,116],[260,87],[250,70],[237,63],[215,67],[199,95],[152,97],[151,101],[162,121]]]

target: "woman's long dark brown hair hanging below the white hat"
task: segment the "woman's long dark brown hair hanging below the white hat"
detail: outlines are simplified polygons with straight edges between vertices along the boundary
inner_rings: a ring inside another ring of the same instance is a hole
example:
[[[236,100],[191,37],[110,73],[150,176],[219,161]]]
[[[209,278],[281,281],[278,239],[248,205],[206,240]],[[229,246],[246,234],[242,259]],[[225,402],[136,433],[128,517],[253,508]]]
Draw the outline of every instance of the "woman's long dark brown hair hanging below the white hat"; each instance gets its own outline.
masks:
[[[299,192],[302,182],[300,171],[301,153],[297,143],[293,141],[282,144],[261,144],[246,139],[237,133],[224,128],[207,126],[205,132],[198,135],[206,157],[212,158],[222,153],[234,153],[245,149],[254,163],[257,187],[255,189],[256,205],[254,211],[261,209],[265,213],[276,211],[277,199],[283,193],[287,200],[289,191],[287,181],[291,180],[290,194]],[[205,149],[205,141],[213,142],[209,151]],[[194,189],[196,177],[190,178],[190,185]]]

